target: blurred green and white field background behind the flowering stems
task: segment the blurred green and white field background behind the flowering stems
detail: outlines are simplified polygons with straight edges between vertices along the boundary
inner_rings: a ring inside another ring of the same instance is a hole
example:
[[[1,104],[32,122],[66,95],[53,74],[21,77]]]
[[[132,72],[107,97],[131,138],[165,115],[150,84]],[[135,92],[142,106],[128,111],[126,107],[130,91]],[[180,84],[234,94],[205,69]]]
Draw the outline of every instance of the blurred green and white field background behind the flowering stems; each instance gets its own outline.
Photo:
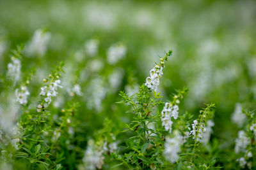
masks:
[[[118,91],[144,83],[158,55],[173,50],[160,83],[164,99],[167,101],[175,89],[188,87],[180,113],[188,110],[196,115],[204,103],[216,103],[214,136],[225,148],[234,144],[237,134],[238,127],[230,120],[235,104],[250,101],[246,107],[254,109],[255,9],[256,1],[1,0],[0,73],[6,73],[11,49],[26,45],[37,29],[51,32],[43,57],[22,59],[23,70],[36,69],[31,96],[38,96],[51,67],[65,61],[63,81],[77,81],[82,87],[81,105],[86,107],[79,108],[79,117],[86,134],[81,134],[90,136],[102,127],[105,117],[116,124],[127,122],[125,108],[115,104],[120,100]],[[84,53],[89,39],[99,41],[95,57]],[[113,66],[106,53],[116,43],[126,46],[127,53]],[[98,71],[91,68],[95,60],[102,64]],[[101,110],[89,109],[90,82],[97,76],[107,79],[116,69],[122,70],[120,85],[102,97]],[[67,96],[65,92],[61,95]]]

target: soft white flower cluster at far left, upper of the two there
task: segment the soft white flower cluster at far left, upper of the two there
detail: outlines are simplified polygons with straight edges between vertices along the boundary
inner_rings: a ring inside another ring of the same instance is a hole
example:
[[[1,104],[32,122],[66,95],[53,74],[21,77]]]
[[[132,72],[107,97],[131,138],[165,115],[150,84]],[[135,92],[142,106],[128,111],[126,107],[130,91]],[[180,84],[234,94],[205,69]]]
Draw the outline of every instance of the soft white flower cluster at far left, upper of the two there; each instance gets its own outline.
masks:
[[[12,62],[8,64],[8,72],[7,75],[13,80],[13,81],[19,81],[20,80],[20,60],[15,59],[12,57]]]

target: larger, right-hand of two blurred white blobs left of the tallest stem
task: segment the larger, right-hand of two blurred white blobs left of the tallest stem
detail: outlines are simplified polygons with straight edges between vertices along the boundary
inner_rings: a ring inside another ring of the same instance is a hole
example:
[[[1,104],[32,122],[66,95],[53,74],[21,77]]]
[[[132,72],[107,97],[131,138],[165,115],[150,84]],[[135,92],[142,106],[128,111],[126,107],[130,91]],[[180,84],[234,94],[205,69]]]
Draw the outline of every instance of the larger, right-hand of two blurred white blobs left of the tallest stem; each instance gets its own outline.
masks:
[[[110,46],[107,51],[108,63],[111,65],[116,64],[116,62],[125,57],[126,51],[126,47],[122,44]]]

